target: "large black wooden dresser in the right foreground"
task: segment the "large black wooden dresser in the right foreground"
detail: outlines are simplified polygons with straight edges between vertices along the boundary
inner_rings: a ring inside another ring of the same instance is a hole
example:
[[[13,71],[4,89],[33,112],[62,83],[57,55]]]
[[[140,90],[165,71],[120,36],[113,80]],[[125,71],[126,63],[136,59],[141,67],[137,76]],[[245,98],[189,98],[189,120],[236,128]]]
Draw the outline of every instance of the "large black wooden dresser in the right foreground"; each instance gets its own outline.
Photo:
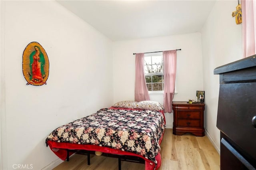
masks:
[[[220,168],[256,169],[256,55],[217,67]]]

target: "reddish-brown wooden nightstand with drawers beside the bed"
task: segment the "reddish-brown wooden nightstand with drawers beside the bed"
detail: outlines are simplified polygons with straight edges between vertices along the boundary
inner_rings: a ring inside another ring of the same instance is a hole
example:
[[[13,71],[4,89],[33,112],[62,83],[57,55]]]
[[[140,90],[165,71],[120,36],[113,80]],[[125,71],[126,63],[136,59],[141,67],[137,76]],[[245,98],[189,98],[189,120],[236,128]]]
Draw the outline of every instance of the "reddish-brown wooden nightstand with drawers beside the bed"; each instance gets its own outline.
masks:
[[[204,103],[188,104],[186,101],[173,101],[173,134],[190,132],[204,136]]]

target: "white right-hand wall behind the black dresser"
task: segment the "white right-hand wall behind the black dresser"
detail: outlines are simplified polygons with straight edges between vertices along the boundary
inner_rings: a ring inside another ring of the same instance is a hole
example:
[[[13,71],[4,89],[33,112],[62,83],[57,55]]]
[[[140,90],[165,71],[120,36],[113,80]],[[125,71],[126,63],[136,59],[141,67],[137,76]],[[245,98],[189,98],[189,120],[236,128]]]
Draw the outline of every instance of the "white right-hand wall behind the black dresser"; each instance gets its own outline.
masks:
[[[219,75],[216,67],[242,59],[242,24],[236,25],[231,14],[236,0],[216,1],[202,29],[204,90],[206,91],[205,128],[220,151],[220,131],[216,127],[219,95]]]

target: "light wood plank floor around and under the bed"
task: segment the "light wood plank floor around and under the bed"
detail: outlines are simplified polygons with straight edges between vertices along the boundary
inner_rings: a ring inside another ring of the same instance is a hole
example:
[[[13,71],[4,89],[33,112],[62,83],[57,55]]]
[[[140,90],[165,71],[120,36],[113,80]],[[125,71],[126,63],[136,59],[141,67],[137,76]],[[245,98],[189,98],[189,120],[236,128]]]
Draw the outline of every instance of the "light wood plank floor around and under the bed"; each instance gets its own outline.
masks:
[[[166,129],[161,143],[162,165],[159,170],[219,170],[220,155],[207,136],[192,134],[176,136],[172,129]],[[62,162],[54,170],[118,170],[118,159],[75,154],[69,162]],[[122,170],[144,170],[145,165],[122,161]]]

